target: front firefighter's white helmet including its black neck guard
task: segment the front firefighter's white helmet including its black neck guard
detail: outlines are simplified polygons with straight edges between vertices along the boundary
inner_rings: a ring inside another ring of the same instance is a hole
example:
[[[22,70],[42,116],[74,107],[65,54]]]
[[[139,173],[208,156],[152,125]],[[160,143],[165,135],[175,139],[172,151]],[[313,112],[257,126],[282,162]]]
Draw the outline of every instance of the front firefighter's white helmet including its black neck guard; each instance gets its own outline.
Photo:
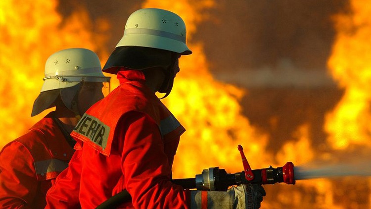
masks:
[[[185,23],[177,14],[164,9],[144,8],[132,13],[124,36],[108,57],[103,72],[117,74],[119,67],[143,70],[167,68],[172,55],[191,54],[186,46]],[[138,61],[140,60],[140,61]]]

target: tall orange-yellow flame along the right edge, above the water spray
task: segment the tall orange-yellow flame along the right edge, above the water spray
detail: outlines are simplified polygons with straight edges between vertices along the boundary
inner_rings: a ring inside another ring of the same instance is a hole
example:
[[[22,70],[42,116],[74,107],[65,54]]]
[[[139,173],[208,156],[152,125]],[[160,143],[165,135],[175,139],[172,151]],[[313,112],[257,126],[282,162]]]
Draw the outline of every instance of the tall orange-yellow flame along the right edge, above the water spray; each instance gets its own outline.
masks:
[[[345,90],[325,125],[329,144],[339,150],[371,147],[371,6],[366,0],[352,0],[351,5],[353,15],[337,16],[337,38],[328,60],[333,78]]]

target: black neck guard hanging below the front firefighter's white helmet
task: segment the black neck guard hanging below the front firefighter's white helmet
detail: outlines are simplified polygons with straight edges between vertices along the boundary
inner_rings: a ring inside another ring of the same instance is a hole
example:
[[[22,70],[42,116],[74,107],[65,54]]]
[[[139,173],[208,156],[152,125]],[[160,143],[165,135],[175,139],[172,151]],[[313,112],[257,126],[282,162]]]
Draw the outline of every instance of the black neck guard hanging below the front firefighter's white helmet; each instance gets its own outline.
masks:
[[[152,67],[166,69],[171,64],[172,53],[148,47],[117,47],[108,57],[103,72],[117,74],[120,67],[133,70],[144,70]]]

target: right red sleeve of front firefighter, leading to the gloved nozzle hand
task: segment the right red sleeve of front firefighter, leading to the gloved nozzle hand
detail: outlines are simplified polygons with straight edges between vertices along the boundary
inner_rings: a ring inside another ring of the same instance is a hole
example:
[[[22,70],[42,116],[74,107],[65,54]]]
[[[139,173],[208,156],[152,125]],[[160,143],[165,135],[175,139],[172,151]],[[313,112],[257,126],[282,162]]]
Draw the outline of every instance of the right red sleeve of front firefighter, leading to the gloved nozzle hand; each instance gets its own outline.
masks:
[[[155,121],[144,113],[129,112],[117,127],[123,127],[121,166],[134,207],[189,208],[189,190],[169,180],[171,167]]]

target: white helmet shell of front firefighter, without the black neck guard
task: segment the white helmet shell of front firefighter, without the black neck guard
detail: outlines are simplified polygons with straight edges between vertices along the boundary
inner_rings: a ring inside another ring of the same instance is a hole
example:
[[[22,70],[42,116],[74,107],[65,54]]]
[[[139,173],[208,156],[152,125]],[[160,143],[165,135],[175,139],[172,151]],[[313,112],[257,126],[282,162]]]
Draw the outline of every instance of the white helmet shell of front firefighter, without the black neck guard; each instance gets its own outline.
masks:
[[[132,13],[125,25],[124,36],[117,47],[138,46],[177,52],[192,52],[186,46],[186,29],[177,14],[157,8],[139,9]]]

